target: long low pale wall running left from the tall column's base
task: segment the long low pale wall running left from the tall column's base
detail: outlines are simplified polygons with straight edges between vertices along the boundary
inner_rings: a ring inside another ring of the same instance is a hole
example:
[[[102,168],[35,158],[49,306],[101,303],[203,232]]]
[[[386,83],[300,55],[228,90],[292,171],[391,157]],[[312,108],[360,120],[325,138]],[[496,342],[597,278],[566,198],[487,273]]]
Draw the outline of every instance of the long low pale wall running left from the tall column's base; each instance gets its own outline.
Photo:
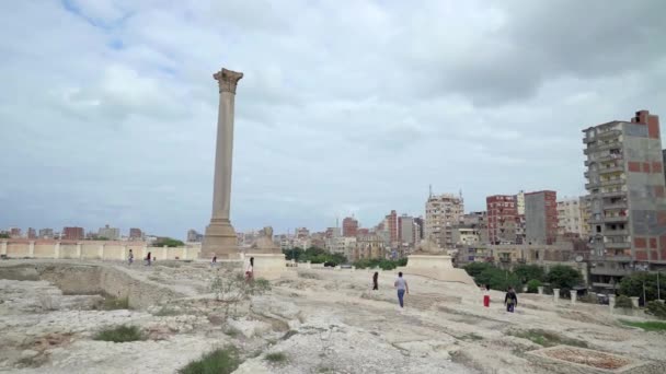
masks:
[[[141,260],[150,252],[159,259],[196,259],[199,246],[185,247],[149,247],[143,242],[112,242],[112,241],[0,241],[0,255],[11,258],[65,258],[65,259],[103,259],[126,260],[129,249],[134,252],[135,260]]]

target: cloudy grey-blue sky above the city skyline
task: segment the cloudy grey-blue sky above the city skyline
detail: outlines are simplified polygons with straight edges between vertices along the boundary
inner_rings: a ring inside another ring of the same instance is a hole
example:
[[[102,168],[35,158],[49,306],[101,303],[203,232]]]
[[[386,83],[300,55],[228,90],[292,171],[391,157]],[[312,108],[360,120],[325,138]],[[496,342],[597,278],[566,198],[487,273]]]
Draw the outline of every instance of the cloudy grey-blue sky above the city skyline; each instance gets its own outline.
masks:
[[[277,232],[584,190],[581,130],[666,118],[666,2],[2,1],[0,227],[210,219],[237,91],[232,223]],[[666,131],[664,131],[666,132]]]

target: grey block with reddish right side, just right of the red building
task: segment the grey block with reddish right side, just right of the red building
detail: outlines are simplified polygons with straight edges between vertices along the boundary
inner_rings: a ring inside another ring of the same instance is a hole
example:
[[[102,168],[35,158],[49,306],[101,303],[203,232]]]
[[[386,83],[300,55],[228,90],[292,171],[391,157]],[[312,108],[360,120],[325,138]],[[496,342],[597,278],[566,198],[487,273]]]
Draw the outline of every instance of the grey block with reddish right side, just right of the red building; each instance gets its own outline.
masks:
[[[525,194],[525,234],[528,243],[553,244],[558,239],[558,192]]]

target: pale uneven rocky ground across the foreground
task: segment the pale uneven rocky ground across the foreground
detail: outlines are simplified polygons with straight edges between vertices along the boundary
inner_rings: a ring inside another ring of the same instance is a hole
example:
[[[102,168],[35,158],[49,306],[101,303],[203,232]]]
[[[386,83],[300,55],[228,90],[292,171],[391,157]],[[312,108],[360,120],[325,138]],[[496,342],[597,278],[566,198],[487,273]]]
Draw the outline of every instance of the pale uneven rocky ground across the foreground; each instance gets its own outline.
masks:
[[[21,262],[27,260],[0,264],[0,278],[3,267]],[[46,281],[0,279],[0,372],[174,373],[228,346],[243,360],[237,373],[248,374],[551,373],[529,352],[562,343],[648,362],[640,373],[666,367],[666,335],[624,327],[608,306],[520,294],[516,313],[508,314],[501,293],[493,292],[491,307],[484,308],[474,288],[410,277],[411,294],[400,311],[392,272],[381,272],[380,290],[371,291],[371,272],[289,269],[269,291],[234,304],[226,315],[209,285],[216,276],[230,278],[230,269],[197,262],[90,264],[117,268],[180,296],[141,311],[107,311],[101,295],[64,294]],[[146,340],[93,339],[113,326],[138,326]],[[530,339],[539,334],[550,340]],[[269,353],[284,360],[267,360]],[[556,365],[562,373],[590,372],[582,367]]]

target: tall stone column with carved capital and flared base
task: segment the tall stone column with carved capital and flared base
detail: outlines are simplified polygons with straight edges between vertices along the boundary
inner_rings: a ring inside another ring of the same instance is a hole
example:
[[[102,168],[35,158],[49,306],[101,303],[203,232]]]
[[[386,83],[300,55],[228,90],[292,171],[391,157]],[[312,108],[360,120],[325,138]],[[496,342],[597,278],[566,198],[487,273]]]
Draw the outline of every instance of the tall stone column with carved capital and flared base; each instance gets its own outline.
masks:
[[[236,86],[243,73],[222,69],[213,78],[218,82],[220,102],[217,117],[217,147],[215,152],[215,179],[213,185],[213,217],[199,257],[238,256],[236,231],[229,220],[231,208],[231,166],[233,159],[233,106]]]

